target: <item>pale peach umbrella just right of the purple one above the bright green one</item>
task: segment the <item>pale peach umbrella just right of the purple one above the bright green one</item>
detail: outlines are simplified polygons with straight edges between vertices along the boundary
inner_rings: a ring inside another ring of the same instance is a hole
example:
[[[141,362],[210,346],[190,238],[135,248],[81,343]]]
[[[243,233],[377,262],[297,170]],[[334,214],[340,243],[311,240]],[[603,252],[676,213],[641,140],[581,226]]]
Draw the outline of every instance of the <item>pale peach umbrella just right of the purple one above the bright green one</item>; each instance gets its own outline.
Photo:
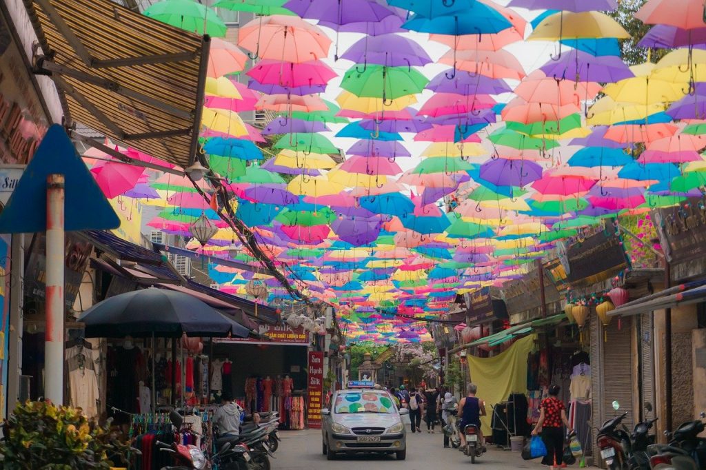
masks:
[[[508,51],[449,51],[439,59],[441,64],[453,66],[471,73],[480,73],[490,78],[511,78],[522,80],[525,69],[513,54]]]

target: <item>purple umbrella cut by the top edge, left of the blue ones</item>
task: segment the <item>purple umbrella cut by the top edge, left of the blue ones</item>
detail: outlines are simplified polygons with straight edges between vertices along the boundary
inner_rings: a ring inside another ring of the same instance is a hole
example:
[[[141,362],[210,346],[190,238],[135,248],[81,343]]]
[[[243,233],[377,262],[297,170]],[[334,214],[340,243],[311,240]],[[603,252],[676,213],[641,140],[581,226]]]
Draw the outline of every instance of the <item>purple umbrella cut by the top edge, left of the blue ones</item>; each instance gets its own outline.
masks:
[[[334,25],[377,22],[395,14],[371,0],[289,0],[283,6],[301,18]]]

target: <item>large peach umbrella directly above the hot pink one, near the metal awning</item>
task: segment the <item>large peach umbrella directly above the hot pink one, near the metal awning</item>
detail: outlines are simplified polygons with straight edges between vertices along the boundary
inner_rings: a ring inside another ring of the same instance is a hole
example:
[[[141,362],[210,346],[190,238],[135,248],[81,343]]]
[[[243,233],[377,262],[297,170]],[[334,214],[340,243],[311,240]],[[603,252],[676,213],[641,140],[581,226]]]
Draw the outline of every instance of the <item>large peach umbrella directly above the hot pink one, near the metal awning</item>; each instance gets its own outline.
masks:
[[[251,59],[301,62],[328,56],[331,40],[316,25],[297,16],[261,16],[238,30],[238,45]]]

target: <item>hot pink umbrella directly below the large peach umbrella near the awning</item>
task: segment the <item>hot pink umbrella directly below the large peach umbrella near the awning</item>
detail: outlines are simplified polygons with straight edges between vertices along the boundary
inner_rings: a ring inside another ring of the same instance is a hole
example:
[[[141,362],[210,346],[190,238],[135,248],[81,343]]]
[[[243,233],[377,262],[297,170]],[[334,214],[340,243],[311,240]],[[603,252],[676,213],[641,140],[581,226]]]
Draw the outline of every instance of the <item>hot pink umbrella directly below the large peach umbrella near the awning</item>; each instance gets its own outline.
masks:
[[[287,59],[285,57],[285,59]],[[246,73],[259,83],[293,88],[311,85],[325,85],[335,78],[336,73],[322,61],[280,62],[263,59]]]

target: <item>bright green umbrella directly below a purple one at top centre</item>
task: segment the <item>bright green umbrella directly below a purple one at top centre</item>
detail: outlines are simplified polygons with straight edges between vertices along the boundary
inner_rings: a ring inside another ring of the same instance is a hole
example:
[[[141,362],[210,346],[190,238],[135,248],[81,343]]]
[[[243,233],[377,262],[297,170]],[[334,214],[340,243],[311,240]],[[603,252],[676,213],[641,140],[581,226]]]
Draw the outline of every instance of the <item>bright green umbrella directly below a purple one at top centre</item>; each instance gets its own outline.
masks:
[[[421,93],[427,83],[429,79],[411,67],[367,65],[362,73],[355,67],[347,71],[341,88],[359,97],[395,100]]]

